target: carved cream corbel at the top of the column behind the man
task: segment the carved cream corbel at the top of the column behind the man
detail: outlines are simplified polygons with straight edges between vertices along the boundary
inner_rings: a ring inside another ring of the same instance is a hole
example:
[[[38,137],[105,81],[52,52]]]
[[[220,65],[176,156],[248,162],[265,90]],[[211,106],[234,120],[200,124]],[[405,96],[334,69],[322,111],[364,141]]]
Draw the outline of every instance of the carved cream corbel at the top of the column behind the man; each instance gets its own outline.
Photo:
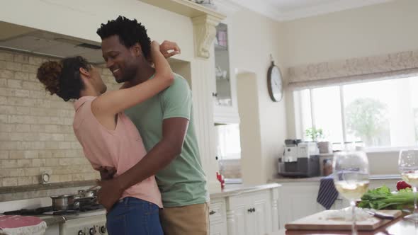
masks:
[[[204,59],[210,57],[210,46],[216,36],[215,27],[221,20],[221,18],[210,15],[192,18],[196,57],[202,57]]]

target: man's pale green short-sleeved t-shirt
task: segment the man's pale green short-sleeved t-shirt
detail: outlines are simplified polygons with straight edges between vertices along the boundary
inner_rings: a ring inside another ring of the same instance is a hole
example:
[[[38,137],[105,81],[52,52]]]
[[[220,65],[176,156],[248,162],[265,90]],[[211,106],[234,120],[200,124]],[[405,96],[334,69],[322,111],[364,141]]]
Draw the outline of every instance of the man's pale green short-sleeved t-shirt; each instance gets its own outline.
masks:
[[[184,117],[189,120],[181,154],[155,176],[164,207],[208,202],[206,178],[200,163],[192,113],[191,90],[186,79],[179,74],[175,74],[169,88],[125,110],[125,114],[139,130],[147,151],[162,139],[164,119]]]

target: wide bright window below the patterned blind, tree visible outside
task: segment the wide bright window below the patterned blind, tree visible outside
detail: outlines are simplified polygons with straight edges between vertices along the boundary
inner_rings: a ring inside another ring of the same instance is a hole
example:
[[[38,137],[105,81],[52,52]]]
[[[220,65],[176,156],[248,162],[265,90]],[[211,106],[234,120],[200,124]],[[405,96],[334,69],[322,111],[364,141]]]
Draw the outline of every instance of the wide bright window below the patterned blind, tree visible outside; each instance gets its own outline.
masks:
[[[294,91],[296,130],[367,148],[418,144],[418,76]]]

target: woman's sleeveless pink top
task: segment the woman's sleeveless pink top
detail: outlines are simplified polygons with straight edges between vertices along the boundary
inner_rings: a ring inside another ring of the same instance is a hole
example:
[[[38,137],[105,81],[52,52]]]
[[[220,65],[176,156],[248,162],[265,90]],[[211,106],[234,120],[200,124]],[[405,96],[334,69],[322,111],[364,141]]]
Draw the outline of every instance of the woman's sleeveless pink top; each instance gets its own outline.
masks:
[[[124,113],[118,113],[115,130],[108,130],[98,122],[91,112],[91,102],[95,98],[83,96],[74,103],[74,133],[91,166],[95,169],[99,166],[114,167],[117,177],[141,161],[147,151],[137,127]],[[125,190],[120,198],[123,197],[137,197],[162,208],[161,194],[154,176]]]

